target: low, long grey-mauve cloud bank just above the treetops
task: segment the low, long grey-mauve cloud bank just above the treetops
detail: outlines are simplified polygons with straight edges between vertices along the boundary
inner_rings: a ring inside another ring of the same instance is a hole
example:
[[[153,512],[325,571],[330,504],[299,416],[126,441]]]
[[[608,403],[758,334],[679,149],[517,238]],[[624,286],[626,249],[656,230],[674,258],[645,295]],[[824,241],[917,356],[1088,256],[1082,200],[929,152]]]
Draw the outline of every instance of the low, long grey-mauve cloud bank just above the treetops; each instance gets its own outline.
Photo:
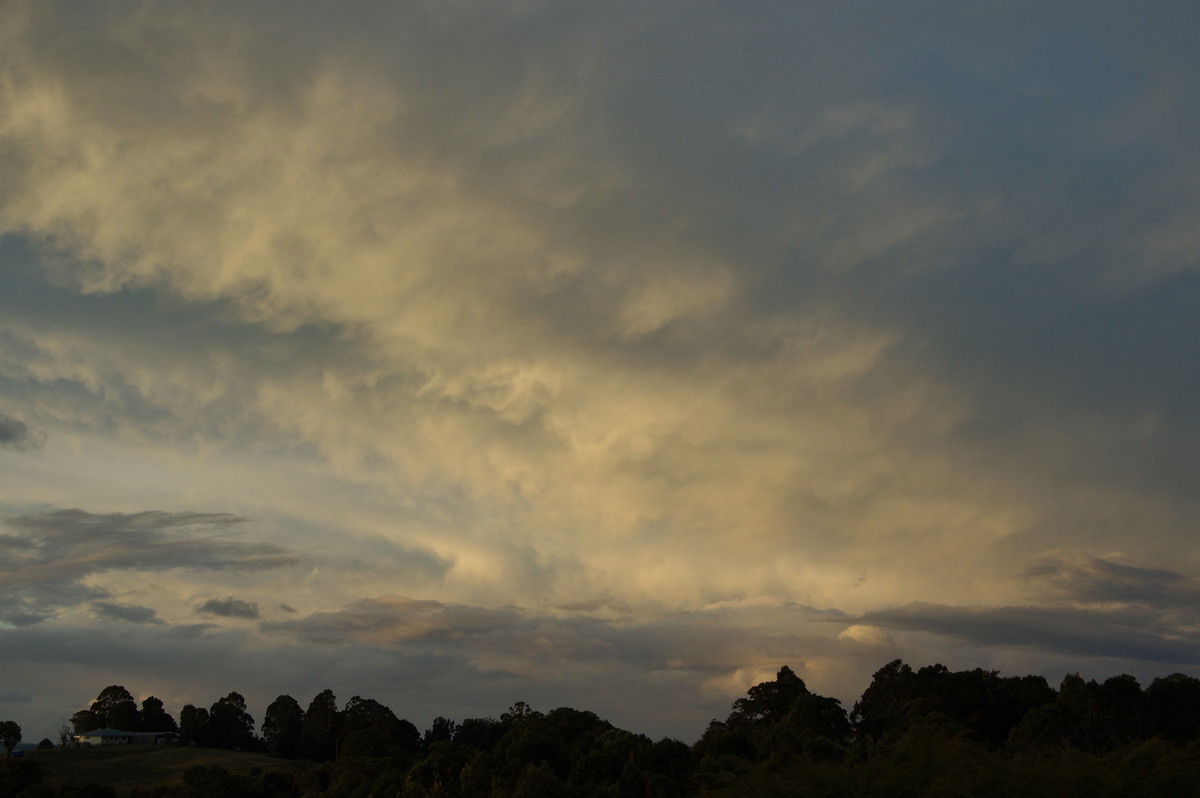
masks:
[[[60,686],[65,706],[47,728],[119,683],[163,698],[173,713],[236,689],[260,720],[281,692],[304,703],[330,688],[341,701],[379,700],[419,727],[437,715],[498,716],[526,701],[541,710],[587,708],[632,731],[690,742],[728,713],[746,679],[773,678],[785,664],[810,689],[852,700],[881,662],[877,653],[840,659],[834,626],[812,623],[826,617],[799,606],[728,605],[630,623],[380,596],[299,624],[263,622],[266,635],[185,624],[124,624],[116,635],[91,619],[59,620],[7,630],[0,660],[10,672],[28,671],[22,686],[36,695]],[[175,678],[198,660],[222,667]],[[78,668],[88,673],[64,679]],[[647,706],[659,709],[648,715]]]

